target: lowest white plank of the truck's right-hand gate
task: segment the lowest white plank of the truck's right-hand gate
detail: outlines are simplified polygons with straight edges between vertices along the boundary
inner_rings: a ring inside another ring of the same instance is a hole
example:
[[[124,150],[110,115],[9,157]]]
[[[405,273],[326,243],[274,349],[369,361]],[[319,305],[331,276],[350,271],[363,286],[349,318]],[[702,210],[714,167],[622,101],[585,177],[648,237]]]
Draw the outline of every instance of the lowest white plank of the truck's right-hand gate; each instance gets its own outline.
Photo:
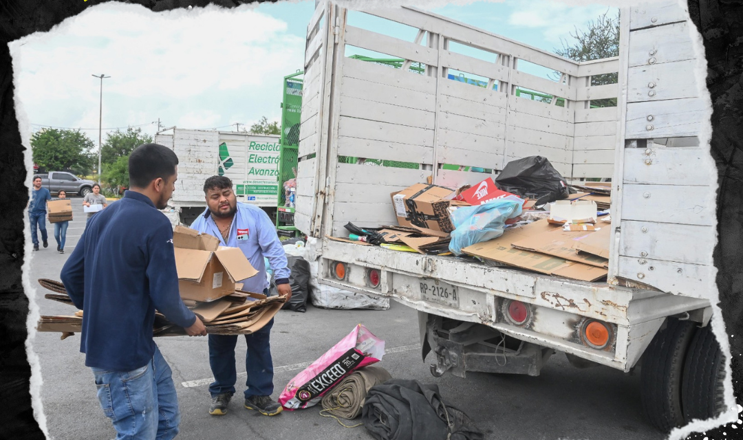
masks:
[[[706,252],[706,249],[701,252]],[[713,287],[715,280],[714,266],[647,259],[645,261],[646,263],[640,264],[638,258],[619,257],[617,275],[674,295],[709,297],[710,288]],[[651,267],[653,270],[650,270]]]

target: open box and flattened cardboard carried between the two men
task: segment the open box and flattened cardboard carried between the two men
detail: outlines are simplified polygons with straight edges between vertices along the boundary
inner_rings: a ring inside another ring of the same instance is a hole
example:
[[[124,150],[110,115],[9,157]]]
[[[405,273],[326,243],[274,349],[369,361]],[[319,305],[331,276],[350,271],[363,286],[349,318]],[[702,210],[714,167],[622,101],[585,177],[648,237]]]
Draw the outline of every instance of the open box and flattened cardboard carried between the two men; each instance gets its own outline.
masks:
[[[178,226],[173,232],[175,266],[181,299],[201,318],[207,332],[215,335],[250,335],[262,329],[285,303],[285,298],[241,290],[241,280],[258,274],[242,251],[219,246],[208,234]],[[54,293],[45,295],[52,301],[74,306],[65,286],[59,281],[39,280]],[[39,332],[62,332],[62,339],[80,332],[82,311],[72,316],[42,316]],[[155,336],[186,335],[159,312],[152,329]]]

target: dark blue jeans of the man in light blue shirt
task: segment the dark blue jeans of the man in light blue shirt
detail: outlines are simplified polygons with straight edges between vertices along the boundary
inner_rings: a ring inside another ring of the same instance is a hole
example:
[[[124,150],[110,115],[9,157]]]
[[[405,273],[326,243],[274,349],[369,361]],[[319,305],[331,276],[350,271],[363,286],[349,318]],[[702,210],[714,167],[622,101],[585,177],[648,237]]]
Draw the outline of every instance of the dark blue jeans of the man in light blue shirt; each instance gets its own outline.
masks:
[[[269,341],[271,327],[273,327],[273,319],[259,331],[252,335],[245,335],[247,344],[245,398],[253,395],[273,394],[273,359]],[[209,365],[214,375],[214,382],[209,386],[209,393],[212,397],[222,393],[235,393],[237,339],[238,335],[209,335]]]

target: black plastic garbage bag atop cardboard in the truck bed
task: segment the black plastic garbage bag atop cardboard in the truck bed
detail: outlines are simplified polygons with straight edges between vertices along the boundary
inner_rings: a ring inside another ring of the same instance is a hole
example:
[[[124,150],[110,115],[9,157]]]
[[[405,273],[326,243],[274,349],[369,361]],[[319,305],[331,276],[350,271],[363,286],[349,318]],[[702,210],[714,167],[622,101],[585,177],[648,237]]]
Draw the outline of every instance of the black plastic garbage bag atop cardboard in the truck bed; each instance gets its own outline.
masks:
[[[571,194],[562,175],[541,156],[508,162],[496,177],[496,185],[500,190],[519,197],[536,199],[537,206],[566,199]]]

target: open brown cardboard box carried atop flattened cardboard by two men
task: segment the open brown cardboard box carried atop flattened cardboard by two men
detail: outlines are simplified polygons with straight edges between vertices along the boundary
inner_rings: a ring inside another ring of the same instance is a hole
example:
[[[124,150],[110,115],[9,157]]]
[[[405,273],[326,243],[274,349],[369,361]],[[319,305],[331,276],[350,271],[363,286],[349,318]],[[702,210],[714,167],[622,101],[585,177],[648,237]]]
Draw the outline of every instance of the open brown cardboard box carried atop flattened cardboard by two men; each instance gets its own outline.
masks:
[[[238,248],[219,246],[217,237],[176,226],[175,266],[181,298],[214,301],[235,292],[238,281],[258,274]]]

